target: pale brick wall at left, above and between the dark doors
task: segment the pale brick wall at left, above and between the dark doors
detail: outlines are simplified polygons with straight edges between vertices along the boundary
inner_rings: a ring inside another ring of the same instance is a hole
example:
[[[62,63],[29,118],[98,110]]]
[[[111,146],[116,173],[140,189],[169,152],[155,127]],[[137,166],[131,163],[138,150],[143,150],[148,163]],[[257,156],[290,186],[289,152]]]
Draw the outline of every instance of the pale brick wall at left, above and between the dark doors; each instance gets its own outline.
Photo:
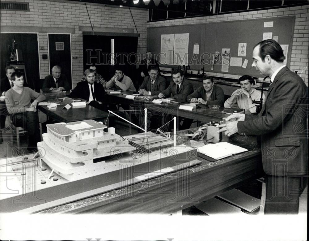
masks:
[[[6,1],[29,2],[30,11],[1,11],[1,26],[25,26],[23,32],[29,32],[26,26],[75,28],[75,32],[71,34],[72,57],[77,57],[72,59],[74,87],[83,75],[83,33],[79,31],[79,26],[91,26],[84,3],[41,0]],[[93,27],[128,28],[134,29],[134,33],[137,33],[128,8],[92,3],[87,3],[87,8]],[[137,52],[143,53],[146,52],[148,10],[131,8],[131,11],[140,34]],[[49,74],[48,59],[42,59],[42,54],[48,54],[47,33],[39,32],[39,49],[40,76],[44,78]]]

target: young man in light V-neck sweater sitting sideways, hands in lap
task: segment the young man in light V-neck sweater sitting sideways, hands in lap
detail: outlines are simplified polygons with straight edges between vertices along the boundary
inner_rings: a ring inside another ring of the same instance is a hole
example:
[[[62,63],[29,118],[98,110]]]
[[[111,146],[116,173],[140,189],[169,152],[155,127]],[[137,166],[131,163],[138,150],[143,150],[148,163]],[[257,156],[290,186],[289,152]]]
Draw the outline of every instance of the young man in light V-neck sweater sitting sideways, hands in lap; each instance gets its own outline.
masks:
[[[45,96],[35,92],[31,88],[23,87],[22,73],[15,72],[12,75],[14,86],[6,91],[5,102],[11,120],[16,127],[24,127],[29,134],[28,150],[37,149],[40,141],[40,126],[36,105],[45,100]],[[34,100],[32,103],[31,100]]]

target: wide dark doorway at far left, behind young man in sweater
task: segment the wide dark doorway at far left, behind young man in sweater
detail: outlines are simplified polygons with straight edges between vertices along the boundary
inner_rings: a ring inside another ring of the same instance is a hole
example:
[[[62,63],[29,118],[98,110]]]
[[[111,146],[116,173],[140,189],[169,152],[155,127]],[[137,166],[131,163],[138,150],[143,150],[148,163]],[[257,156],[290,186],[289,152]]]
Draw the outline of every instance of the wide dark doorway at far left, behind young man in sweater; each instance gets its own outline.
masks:
[[[6,76],[6,62],[10,61],[13,41],[21,51],[27,75],[28,87],[40,91],[38,39],[36,33],[1,33],[1,78]]]

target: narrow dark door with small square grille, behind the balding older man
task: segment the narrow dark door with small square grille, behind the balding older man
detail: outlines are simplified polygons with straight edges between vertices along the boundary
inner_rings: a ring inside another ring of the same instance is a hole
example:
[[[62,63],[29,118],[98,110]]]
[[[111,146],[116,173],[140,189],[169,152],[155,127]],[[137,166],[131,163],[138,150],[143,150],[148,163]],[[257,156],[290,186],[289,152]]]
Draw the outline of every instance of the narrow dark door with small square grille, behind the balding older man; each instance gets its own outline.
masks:
[[[55,65],[61,66],[72,88],[70,34],[48,34],[50,73]]]

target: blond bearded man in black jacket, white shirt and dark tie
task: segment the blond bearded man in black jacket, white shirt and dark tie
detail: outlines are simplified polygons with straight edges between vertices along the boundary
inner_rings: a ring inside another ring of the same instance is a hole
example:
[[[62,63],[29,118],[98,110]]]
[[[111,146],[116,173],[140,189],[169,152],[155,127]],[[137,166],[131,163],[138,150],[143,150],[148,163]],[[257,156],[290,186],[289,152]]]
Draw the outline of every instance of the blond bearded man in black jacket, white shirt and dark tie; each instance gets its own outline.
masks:
[[[86,75],[87,81],[77,83],[69,97],[82,98],[87,101],[88,105],[107,111],[105,90],[101,84],[95,82],[95,71],[87,69],[84,75]]]

